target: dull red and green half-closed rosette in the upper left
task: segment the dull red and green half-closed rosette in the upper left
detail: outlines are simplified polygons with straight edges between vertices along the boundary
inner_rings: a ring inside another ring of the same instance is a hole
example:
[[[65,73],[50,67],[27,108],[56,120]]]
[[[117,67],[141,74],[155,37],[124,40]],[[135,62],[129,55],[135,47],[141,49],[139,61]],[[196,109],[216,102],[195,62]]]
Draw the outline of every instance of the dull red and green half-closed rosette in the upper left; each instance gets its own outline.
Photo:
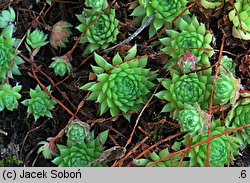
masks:
[[[55,25],[53,25],[49,40],[53,48],[58,49],[58,47],[66,47],[66,43],[69,42],[68,38],[72,34],[71,27],[72,25],[65,21],[59,21]]]

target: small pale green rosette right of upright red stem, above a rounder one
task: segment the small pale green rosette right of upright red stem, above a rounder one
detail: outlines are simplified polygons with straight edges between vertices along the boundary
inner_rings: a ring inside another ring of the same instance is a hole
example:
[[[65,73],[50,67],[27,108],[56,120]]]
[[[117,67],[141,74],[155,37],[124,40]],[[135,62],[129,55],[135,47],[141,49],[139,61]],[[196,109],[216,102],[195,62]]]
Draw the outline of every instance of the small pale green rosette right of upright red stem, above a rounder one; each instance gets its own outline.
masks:
[[[221,57],[220,64],[220,74],[230,75],[230,73],[232,73],[233,75],[235,75],[236,64],[234,63],[232,58],[224,55]]]

